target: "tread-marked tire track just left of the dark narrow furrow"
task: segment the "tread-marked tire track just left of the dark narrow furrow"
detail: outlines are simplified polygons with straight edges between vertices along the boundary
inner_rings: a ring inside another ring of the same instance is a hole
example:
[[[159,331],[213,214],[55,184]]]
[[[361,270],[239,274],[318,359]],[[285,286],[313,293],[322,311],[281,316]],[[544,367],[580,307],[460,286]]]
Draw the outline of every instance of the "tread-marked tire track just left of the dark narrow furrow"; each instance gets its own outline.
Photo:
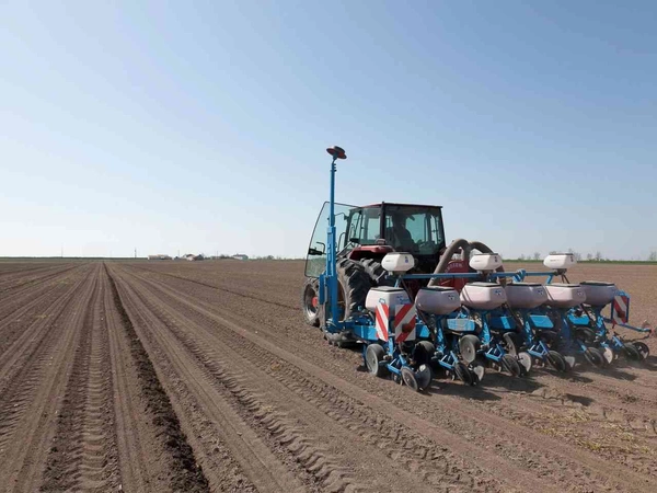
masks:
[[[101,271],[58,413],[42,491],[117,491],[120,484],[103,303],[107,287]]]

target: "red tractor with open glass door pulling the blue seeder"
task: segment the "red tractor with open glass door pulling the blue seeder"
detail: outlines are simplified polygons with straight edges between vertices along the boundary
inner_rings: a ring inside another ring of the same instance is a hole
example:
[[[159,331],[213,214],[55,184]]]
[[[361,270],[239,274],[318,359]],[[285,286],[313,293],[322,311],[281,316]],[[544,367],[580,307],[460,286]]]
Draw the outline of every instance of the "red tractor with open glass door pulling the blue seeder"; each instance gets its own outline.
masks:
[[[304,318],[314,326],[320,326],[323,319],[318,303],[318,278],[326,267],[328,215],[328,203],[325,203],[310,240],[307,280],[301,295]],[[412,272],[431,274],[446,250],[440,206],[381,203],[354,207],[335,204],[335,229],[337,298],[343,320],[365,305],[372,286],[388,283],[381,267],[387,253],[412,253],[415,257]],[[419,284],[408,287],[416,291]]]

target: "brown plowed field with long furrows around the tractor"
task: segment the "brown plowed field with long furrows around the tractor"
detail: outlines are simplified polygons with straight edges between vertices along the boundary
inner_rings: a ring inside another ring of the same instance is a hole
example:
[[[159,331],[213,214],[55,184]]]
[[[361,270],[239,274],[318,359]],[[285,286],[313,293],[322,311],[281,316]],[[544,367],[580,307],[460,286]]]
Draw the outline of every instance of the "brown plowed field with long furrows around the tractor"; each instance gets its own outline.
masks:
[[[656,267],[585,278],[657,321]],[[657,491],[654,356],[413,393],[303,325],[302,280],[301,262],[0,263],[0,490]]]

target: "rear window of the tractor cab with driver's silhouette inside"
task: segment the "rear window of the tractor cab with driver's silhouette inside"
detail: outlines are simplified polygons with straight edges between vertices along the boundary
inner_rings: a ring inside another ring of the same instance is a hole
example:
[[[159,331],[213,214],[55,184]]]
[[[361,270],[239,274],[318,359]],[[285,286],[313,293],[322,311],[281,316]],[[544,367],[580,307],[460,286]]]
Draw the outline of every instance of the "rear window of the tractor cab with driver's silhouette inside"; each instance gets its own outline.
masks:
[[[385,241],[397,251],[437,254],[445,246],[440,207],[387,204]]]

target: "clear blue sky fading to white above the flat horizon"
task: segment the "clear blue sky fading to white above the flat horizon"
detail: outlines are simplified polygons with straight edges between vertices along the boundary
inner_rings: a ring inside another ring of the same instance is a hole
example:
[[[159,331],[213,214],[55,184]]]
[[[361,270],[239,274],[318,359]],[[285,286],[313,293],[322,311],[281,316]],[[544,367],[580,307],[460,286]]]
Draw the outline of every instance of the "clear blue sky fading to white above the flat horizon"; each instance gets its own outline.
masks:
[[[0,3],[0,255],[301,256],[328,196],[657,250],[655,1]]]

